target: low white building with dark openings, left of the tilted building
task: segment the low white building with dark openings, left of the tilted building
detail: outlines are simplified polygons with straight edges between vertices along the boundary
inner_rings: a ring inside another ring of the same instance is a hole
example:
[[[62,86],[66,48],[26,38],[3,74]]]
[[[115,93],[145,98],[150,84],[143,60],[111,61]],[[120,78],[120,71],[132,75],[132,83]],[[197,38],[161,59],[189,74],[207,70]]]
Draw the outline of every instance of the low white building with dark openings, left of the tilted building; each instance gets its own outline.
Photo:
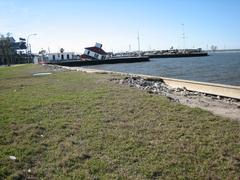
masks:
[[[74,52],[59,52],[59,53],[49,53],[49,61],[66,61],[76,59]]]

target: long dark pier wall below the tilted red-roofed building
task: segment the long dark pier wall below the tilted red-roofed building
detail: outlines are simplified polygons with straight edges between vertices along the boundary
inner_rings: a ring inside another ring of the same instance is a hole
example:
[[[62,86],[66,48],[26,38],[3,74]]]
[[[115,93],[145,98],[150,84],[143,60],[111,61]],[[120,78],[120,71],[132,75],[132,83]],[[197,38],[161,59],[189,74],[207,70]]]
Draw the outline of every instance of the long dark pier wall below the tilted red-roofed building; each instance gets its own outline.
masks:
[[[148,56],[141,57],[114,57],[106,60],[68,60],[68,61],[52,61],[48,64],[55,64],[60,66],[92,66],[101,64],[118,64],[118,63],[136,63],[136,62],[147,62],[149,61]]]

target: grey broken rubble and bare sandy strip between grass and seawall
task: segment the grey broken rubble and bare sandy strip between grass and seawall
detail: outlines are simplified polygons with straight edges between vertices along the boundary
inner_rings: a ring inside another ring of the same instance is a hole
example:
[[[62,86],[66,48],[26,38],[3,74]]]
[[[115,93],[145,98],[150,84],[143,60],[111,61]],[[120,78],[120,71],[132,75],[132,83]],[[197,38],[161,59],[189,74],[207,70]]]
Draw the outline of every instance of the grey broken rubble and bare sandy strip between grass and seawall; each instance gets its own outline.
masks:
[[[128,76],[124,79],[113,78],[111,81],[151,94],[166,96],[172,102],[199,107],[215,114],[240,120],[240,101],[238,99],[189,91],[186,88],[172,88],[161,80],[146,80],[140,76]]]

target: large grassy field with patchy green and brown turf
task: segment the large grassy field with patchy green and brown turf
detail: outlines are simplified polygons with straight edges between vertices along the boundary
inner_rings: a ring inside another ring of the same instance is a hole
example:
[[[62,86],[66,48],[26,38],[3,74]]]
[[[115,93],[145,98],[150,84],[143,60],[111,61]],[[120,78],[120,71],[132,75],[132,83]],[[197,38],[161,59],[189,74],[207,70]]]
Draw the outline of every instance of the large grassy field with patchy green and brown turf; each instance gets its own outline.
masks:
[[[44,71],[0,68],[0,179],[240,178],[239,122],[110,75],[32,76]]]

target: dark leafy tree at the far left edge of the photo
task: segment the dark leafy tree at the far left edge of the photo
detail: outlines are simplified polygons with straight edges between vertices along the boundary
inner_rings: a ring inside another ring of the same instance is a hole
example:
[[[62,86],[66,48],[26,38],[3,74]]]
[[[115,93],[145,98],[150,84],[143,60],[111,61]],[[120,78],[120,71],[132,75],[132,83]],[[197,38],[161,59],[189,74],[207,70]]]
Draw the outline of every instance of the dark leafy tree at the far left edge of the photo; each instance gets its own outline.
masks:
[[[12,63],[12,56],[14,52],[11,47],[10,41],[10,33],[7,33],[6,36],[0,36],[0,55],[3,59],[3,64],[7,64],[8,66]]]

